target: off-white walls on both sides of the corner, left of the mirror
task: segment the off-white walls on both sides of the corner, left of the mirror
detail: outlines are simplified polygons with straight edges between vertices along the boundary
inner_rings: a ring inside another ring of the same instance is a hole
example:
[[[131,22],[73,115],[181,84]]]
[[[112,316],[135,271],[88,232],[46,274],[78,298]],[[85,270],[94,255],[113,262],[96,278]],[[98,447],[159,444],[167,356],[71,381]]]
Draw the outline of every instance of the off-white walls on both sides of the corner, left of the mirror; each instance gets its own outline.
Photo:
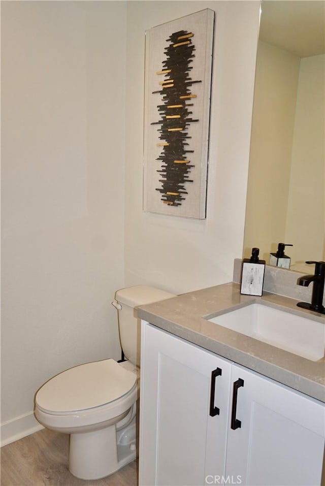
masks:
[[[207,219],[143,213],[144,30],[204,8],[216,11]],[[232,279],[258,13],[258,1],[2,3],[4,443],[33,430],[49,377],[118,358],[115,289]]]

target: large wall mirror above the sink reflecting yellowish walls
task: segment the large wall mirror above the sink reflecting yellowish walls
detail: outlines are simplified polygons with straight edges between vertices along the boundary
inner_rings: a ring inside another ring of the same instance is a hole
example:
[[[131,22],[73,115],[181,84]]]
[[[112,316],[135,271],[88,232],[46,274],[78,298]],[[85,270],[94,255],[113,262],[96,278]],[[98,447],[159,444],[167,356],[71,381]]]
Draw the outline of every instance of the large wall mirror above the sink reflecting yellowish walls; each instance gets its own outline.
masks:
[[[325,261],[325,2],[263,1],[256,59],[244,257],[291,270]]]

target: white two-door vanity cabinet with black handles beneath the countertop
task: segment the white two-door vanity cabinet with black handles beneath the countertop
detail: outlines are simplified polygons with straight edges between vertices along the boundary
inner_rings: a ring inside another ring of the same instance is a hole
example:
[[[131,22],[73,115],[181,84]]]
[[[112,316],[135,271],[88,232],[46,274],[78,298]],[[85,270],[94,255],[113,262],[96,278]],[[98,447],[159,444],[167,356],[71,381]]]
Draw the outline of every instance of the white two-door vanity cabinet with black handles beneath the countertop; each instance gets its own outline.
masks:
[[[320,484],[324,406],[142,325],[140,486]]]

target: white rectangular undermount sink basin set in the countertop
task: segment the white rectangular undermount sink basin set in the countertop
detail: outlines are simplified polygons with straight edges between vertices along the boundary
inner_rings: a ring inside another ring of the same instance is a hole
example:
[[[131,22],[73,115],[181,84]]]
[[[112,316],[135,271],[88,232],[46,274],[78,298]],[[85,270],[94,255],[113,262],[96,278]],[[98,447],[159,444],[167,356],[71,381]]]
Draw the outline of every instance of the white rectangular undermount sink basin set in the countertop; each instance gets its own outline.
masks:
[[[325,353],[325,319],[319,322],[252,303],[208,320],[311,361],[318,361]]]

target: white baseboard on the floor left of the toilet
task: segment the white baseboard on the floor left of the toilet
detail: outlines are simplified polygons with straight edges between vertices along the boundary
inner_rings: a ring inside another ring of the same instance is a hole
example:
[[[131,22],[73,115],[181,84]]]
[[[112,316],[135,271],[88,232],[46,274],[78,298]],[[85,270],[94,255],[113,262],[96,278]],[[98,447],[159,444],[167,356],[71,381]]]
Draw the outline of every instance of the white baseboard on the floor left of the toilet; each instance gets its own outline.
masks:
[[[34,412],[25,413],[1,424],[0,447],[22,439],[27,435],[34,434],[44,427],[36,420]]]

